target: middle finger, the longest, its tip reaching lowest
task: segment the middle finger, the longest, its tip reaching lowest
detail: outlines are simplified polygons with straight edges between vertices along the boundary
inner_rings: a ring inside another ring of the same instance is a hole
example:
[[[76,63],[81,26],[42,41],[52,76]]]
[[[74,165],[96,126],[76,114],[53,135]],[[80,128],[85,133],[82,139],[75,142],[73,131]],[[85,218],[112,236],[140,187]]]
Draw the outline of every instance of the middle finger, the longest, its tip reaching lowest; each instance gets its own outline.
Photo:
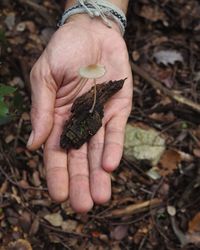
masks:
[[[87,212],[93,207],[89,187],[87,144],[84,144],[78,150],[72,149],[69,151],[68,169],[71,206],[76,212]]]

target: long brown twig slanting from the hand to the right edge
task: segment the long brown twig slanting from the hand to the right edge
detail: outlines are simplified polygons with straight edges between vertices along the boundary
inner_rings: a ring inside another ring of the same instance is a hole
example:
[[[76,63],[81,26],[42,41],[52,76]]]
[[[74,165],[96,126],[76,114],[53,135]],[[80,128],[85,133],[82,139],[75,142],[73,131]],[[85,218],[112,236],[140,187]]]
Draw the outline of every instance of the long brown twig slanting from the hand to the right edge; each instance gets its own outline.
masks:
[[[132,68],[133,72],[136,73],[137,75],[139,75],[140,77],[142,77],[148,83],[150,83],[154,89],[159,90],[160,92],[167,95],[171,99],[173,99],[181,104],[184,104],[184,105],[186,105],[186,106],[188,106],[188,107],[190,107],[190,108],[192,108],[195,111],[200,113],[200,104],[195,103],[195,102],[183,97],[182,95],[174,93],[173,91],[164,87],[161,82],[152,78],[145,70],[138,67],[133,62],[130,62],[130,64],[131,64],[131,68]]]

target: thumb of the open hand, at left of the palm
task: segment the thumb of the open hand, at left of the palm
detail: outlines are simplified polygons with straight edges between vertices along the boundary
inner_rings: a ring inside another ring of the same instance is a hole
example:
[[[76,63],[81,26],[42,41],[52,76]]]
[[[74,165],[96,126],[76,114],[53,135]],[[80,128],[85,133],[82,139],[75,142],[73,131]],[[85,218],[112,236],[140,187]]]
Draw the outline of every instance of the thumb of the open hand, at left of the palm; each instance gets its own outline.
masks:
[[[41,146],[49,136],[53,126],[53,112],[56,98],[56,83],[43,57],[31,71],[32,132],[27,147],[35,150]]]

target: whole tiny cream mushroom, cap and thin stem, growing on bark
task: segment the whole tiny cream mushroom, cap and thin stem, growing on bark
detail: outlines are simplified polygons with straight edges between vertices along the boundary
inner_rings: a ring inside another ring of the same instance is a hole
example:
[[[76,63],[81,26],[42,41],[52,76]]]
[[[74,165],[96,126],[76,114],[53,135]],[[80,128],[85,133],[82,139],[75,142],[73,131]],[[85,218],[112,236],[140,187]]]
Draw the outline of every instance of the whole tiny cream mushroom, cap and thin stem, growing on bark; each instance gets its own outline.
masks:
[[[105,66],[100,64],[91,64],[86,67],[81,67],[79,69],[79,75],[83,79],[93,79],[94,80],[94,101],[92,104],[92,107],[90,109],[90,113],[93,112],[95,104],[96,104],[96,98],[97,98],[97,90],[96,90],[96,79],[104,76],[106,73]]]

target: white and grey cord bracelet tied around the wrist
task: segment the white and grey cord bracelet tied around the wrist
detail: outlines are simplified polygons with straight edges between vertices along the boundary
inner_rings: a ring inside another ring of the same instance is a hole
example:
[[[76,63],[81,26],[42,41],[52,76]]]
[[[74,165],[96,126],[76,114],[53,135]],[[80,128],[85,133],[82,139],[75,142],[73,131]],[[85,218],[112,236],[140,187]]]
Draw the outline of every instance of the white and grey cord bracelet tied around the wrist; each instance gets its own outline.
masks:
[[[87,13],[91,18],[100,17],[109,28],[112,27],[109,20],[115,21],[124,35],[127,24],[125,14],[106,0],[77,0],[76,5],[65,10],[58,26],[62,26],[70,16],[81,13]]]

